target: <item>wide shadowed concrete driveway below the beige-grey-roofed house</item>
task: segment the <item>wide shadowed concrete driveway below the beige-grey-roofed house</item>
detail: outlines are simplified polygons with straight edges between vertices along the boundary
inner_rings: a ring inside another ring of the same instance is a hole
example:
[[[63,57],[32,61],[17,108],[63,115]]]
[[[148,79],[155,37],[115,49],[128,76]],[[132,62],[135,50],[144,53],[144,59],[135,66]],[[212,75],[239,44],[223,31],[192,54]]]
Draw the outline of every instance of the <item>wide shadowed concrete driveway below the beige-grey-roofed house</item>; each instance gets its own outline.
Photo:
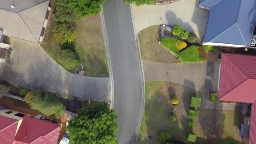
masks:
[[[109,78],[84,77],[67,72],[37,43],[11,38],[11,59],[0,67],[0,77],[21,88],[67,93],[108,101]]]

